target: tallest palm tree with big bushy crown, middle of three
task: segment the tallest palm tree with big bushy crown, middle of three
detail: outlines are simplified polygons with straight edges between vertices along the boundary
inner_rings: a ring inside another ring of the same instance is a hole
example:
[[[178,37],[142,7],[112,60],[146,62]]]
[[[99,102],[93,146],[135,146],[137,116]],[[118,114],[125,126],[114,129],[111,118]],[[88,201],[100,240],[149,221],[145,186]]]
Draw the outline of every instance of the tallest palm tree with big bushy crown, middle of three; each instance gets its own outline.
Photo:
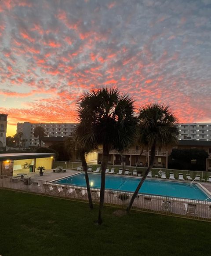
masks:
[[[98,224],[101,225],[109,150],[122,152],[133,143],[134,102],[128,95],[120,95],[116,88],[93,89],[79,98],[77,113],[80,126],[86,131],[80,136],[81,146],[102,145],[98,214]]]

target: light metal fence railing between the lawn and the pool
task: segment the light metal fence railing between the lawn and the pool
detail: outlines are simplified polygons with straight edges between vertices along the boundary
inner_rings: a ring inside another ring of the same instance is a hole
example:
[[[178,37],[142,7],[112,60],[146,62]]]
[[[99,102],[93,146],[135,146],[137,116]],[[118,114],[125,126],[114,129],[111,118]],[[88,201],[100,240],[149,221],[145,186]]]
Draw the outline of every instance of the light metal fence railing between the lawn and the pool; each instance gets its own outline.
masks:
[[[0,188],[25,191],[33,194],[45,194],[70,200],[88,201],[86,187],[57,184],[50,181],[0,176]],[[100,189],[91,188],[91,194],[92,200],[97,203],[99,201]],[[104,203],[106,205],[126,208],[132,194],[131,192],[106,189]],[[211,221],[211,201],[138,194],[132,205],[132,209]]]

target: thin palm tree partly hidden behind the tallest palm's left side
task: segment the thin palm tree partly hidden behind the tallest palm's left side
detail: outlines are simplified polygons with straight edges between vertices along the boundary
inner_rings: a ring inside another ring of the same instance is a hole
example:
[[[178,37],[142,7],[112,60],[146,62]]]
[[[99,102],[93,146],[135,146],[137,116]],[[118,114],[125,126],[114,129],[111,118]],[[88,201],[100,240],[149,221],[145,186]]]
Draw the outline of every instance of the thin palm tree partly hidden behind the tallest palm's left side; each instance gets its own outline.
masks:
[[[89,199],[89,208],[93,209],[93,203],[92,203],[92,198],[91,198],[91,189],[90,189],[90,183],[89,183],[89,176],[88,176],[88,167],[87,167],[87,161],[85,158],[85,154],[88,154],[91,152],[91,147],[84,149],[80,146],[80,133],[83,132],[81,131],[80,124],[77,126],[75,130],[74,137],[69,137],[68,139],[65,140],[65,148],[68,151],[69,154],[74,154],[76,150],[79,151],[80,153],[80,159],[82,162],[82,168],[83,171],[85,172],[85,179],[86,179],[86,185],[87,185],[87,194],[88,194],[88,199]]]

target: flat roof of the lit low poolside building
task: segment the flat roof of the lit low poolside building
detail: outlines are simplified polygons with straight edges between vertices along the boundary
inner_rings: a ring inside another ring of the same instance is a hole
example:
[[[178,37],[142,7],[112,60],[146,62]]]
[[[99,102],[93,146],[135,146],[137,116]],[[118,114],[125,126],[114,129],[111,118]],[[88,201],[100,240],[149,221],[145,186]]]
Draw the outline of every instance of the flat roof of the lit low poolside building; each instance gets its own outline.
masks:
[[[6,153],[6,154],[0,154],[0,161],[22,160],[22,159],[30,159],[30,158],[44,158],[44,157],[55,157],[55,154],[51,154],[51,153]]]

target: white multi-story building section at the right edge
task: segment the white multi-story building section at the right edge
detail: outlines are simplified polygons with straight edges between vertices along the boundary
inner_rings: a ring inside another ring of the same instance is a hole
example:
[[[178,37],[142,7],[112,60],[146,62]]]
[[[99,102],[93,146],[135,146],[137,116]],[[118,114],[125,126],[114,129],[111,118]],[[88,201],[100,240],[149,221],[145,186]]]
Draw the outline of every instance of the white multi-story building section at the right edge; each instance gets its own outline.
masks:
[[[211,140],[211,124],[179,124],[179,139]]]

